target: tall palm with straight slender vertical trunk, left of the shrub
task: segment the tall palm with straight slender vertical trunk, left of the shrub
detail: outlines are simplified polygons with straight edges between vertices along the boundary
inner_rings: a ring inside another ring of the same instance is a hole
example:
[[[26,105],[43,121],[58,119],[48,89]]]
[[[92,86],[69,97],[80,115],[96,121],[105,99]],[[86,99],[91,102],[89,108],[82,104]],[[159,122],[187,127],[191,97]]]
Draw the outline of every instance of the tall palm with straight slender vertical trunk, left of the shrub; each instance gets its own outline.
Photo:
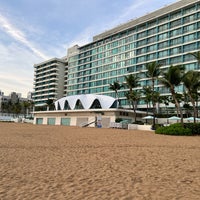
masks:
[[[148,78],[151,79],[151,82],[152,82],[152,104],[153,104],[153,128],[155,128],[155,123],[156,123],[156,120],[155,120],[155,113],[156,113],[156,99],[155,99],[155,95],[154,95],[154,86],[155,86],[155,80],[158,79],[159,75],[160,75],[160,67],[162,65],[157,63],[157,62],[151,62],[151,63],[148,63],[146,65],[146,69],[147,69],[147,73],[146,73],[146,76]]]

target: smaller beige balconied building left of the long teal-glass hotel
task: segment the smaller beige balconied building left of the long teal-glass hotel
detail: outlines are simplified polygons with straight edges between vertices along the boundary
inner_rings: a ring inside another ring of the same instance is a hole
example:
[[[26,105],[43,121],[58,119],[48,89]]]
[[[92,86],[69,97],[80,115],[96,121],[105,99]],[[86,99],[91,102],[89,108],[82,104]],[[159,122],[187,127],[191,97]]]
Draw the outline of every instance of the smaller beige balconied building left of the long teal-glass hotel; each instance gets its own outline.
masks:
[[[48,99],[57,100],[64,95],[65,59],[52,58],[35,64],[34,94],[35,106],[45,106]]]

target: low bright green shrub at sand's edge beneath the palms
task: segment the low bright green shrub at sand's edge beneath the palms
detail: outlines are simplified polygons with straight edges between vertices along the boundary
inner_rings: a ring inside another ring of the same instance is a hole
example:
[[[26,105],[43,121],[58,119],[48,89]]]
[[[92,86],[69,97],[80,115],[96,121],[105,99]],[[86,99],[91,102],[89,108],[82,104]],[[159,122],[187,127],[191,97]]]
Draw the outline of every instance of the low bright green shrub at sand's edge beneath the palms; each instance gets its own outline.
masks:
[[[192,135],[192,130],[182,127],[181,124],[172,124],[170,126],[159,127],[155,133],[164,135]]]

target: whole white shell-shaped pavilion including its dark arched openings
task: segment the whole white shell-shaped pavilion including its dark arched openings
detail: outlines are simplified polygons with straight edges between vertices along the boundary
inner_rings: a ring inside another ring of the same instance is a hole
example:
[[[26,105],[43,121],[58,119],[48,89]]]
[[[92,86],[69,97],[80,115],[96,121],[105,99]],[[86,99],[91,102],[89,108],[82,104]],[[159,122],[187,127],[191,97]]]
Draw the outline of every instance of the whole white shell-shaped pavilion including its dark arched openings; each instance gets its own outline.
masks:
[[[109,109],[117,107],[117,100],[106,95],[81,94],[63,97],[55,102],[56,110]]]

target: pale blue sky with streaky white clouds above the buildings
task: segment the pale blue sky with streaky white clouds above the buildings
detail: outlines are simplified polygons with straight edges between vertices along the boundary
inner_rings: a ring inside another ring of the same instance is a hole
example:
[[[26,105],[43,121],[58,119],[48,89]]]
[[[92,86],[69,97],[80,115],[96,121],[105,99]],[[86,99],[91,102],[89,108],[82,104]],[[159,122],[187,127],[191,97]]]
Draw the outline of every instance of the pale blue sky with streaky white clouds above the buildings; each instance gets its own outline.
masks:
[[[35,63],[177,0],[0,0],[0,90],[27,96]]]

